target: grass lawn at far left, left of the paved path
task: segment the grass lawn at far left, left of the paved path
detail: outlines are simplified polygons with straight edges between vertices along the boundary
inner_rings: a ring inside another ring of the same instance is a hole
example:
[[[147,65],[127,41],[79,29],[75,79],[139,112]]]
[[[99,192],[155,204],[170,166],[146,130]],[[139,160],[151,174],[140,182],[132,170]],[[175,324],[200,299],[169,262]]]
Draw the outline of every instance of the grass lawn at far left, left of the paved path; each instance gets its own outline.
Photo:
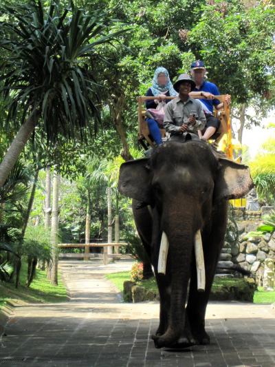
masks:
[[[46,272],[39,269],[36,269],[36,277],[30,288],[25,287],[26,279],[27,264],[23,262],[20,275],[21,285],[18,289],[15,289],[12,283],[0,283],[0,308],[6,300],[23,300],[30,303],[65,302],[68,300],[67,291],[60,276],[58,276],[58,286],[52,286],[47,280]]]

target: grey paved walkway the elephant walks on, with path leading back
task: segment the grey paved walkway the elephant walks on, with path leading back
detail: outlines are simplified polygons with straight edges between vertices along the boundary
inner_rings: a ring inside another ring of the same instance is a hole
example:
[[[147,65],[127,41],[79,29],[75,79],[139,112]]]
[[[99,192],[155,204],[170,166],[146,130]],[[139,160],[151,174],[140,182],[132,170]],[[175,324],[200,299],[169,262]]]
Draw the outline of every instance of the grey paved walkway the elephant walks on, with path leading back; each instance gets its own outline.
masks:
[[[62,262],[72,300],[15,308],[0,339],[0,366],[223,367],[275,366],[275,311],[270,305],[211,302],[209,346],[155,349],[157,303],[124,304],[104,274],[131,262]]]

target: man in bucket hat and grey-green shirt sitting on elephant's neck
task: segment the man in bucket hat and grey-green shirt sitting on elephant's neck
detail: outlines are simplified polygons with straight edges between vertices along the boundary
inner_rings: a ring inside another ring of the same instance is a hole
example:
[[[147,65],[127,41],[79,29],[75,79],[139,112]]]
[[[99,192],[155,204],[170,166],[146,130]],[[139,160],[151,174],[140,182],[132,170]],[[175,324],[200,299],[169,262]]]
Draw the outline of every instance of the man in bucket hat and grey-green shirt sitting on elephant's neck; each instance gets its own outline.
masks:
[[[164,127],[173,136],[186,136],[185,133],[198,134],[206,123],[201,103],[190,98],[189,93],[195,88],[195,83],[188,74],[181,74],[173,85],[179,93],[167,103],[164,114]]]

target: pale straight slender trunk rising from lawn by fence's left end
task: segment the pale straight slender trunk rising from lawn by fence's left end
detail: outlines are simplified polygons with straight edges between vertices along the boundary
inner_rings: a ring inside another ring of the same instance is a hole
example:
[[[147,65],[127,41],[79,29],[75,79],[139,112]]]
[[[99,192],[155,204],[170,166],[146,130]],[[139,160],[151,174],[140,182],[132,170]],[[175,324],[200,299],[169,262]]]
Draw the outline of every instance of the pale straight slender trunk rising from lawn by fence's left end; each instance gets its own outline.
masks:
[[[54,184],[52,188],[52,227],[51,227],[51,244],[52,244],[52,269],[51,269],[51,282],[57,286],[57,273],[58,273],[58,196],[59,196],[60,176],[56,170],[54,170]]]

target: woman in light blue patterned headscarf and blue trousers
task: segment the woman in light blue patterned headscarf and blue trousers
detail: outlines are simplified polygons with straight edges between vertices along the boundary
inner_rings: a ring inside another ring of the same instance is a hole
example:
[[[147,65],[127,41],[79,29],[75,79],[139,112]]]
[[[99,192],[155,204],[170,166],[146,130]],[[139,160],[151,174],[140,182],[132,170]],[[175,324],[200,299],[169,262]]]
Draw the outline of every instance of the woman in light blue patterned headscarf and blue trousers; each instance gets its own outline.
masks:
[[[169,74],[165,67],[157,67],[157,69],[155,70],[153,85],[147,90],[146,96],[155,96],[155,99],[145,102],[146,109],[155,109],[157,108],[159,102],[168,102],[168,100],[165,99],[166,97],[177,96],[177,92],[174,90],[173,84],[170,82]],[[161,145],[162,134],[160,134],[157,121],[153,118],[146,118],[146,121],[148,123],[150,134],[155,140],[155,143],[157,145]]]

